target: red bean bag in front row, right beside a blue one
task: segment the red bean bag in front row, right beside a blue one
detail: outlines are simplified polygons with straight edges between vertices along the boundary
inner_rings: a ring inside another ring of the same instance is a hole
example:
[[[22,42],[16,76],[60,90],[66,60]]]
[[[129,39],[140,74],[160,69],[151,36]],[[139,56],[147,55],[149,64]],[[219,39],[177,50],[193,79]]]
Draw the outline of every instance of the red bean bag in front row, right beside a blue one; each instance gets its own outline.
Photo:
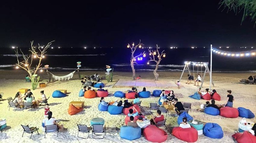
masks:
[[[157,128],[154,125],[148,125],[143,130],[143,135],[146,138],[146,140],[151,142],[165,142],[167,140],[167,133],[160,128]]]

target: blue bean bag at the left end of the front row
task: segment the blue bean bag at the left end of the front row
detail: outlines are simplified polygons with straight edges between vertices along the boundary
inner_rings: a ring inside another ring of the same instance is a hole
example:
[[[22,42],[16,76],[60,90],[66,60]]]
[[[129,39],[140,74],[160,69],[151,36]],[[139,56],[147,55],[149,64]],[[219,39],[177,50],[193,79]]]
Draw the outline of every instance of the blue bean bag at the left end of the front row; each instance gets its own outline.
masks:
[[[141,137],[140,127],[122,126],[120,128],[120,137],[128,140],[135,140]]]

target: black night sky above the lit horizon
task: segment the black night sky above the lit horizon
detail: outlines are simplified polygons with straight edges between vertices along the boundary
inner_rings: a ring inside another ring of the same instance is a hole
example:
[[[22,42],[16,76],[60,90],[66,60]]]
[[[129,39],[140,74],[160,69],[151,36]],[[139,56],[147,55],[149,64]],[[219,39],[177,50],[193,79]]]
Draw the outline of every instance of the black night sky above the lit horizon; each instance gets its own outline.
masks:
[[[222,12],[218,0],[11,1],[0,5],[0,47],[55,40],[61,47],[256,46],[254,22]]]

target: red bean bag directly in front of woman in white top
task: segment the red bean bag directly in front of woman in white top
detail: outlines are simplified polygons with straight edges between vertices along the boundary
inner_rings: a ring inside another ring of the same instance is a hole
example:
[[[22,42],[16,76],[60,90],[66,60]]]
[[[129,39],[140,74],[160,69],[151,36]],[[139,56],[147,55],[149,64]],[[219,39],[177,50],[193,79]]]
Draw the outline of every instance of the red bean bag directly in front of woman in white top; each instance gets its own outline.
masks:
[[[172,129],[171,133],[174,137],[186,142],[196,142],[198,139],[198,132],[196,129],[192,128],[181,128],[175,127]]]

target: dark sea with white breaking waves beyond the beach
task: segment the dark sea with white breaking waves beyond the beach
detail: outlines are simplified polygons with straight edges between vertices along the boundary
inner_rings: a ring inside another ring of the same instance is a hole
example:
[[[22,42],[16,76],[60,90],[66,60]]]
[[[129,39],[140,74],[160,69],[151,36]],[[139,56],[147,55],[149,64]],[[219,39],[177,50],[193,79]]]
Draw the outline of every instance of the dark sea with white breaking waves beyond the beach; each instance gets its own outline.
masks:
[[[21,48],[24,54],[29,54],[29,48]],[[17,57],[15,49],[0,48],[0,70],[15,70]],[[153,50],[156,50],[153,49]],[[164,51],[166,57],[160,62],[158,71],[181,72],[184,68],[184,61],[192,62],[210,62],[210,48],[160,48]],[[231,48],[222,48],[221,50],[232,51]],[[253,49],[233,49],[234,51],[249,51]],[[138,48],[135,52],[146,53],[142,60],[136,61],[135,70],[137,72],[153,71],[155,62],[150,62],[148,48]],[[19,51],[20,52],[20,51]],[[22,61],[22,57],[19,57]],[[122,47],[109,48],[49,48],[42,60],[42,65],[49,65],[49,71],[73,71],[76,70],[76,62],[81,62],[81,71],[106,71],[106,65],[110,65],[114,71],[131,72],[130,66],[131,49]],[[36,63],[38,60],[33,59]],[[208,65],[210,69],[210,63]],[[193,66],[191,65],[191,68]],[[194,71],[203,70],[204,67],[194,65]],[[213,72],[256,72],[256,56],[227,57],[213,53]]]

